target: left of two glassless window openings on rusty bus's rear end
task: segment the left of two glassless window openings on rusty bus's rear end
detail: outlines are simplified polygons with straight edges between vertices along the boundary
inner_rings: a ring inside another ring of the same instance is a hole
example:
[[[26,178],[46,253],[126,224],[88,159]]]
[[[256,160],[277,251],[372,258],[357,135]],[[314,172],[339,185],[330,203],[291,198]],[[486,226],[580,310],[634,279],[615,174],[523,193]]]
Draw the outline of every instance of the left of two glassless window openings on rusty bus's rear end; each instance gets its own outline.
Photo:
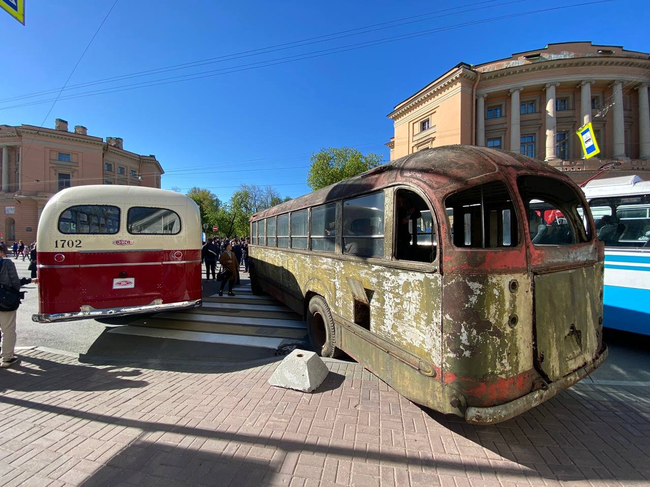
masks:
[[[445,206],[456,247],[515,247],[519,244],[512,196],[502,182],[488,182],[450,195]]]

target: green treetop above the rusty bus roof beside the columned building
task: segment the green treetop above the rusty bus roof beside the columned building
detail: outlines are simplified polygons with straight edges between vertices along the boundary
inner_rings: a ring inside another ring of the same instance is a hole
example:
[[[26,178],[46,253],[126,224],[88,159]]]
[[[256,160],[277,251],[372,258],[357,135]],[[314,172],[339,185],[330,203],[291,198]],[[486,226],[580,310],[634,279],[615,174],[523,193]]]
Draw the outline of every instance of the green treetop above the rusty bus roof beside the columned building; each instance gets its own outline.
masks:
[[[330,147],[311,155],[307,186],[313,191],[361,174],[382,164],[383,157],[363,155],[352,147]]]

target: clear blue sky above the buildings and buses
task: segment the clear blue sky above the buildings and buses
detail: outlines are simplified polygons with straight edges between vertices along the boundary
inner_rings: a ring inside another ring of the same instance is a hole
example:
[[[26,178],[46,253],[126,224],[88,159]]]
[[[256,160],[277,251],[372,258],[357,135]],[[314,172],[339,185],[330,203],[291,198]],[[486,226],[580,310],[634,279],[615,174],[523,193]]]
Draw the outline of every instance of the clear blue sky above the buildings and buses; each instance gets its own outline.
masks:
[[[114,0],[26,3],[25,27],[0,11],[5,47],[1,99],[63,86]],[[650,52],[650,2],[591,3],[276,66],[242,65],[579,3],[586,2],[118,0],[68,86],[369,25],[387,28],[68,90],[61,96],[226,71],[192,81],[60,99],[44,123],[51,101],[6,107],[52,99],[56,92],[0,103],[0,123],[53,127],[55,118],[63,118],[71,129],[85,125],[95,136],[122,137],[125,149],[157,156],[166,171],[163,188],[207,187],[227,200],[246,182],[270,184],[281,195],[295,197],[309,192],[304,184],[309,155],[321,147],[349,145],[387,160],[383,144],[393,127],[386,114],[460,61],[479,64],[551,42],[578,40]],[[395,25],[404,18],[411,23]]]

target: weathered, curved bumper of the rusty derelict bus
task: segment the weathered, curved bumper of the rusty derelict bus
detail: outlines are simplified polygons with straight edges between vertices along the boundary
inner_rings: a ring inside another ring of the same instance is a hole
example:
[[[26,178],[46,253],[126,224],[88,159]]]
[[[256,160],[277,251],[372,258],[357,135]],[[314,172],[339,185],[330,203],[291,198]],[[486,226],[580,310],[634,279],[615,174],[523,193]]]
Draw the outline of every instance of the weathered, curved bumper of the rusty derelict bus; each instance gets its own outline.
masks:
[[[465,410],[465,421],[475,425],[491,425],[494,423],[500,423],[501,421],[506,421],[506,419],[514,418],[517,414],[521,414],[524,411],[540,405],[544,401],[551,399],[551,397],[563,389],[571,387],[576,382],[587,377],[587,375],[603,364],[608,354],[609,349],[604,345],[601,355],[591,362],[591,364],[587,364],[586,366],[571,372],[569,375],[562,377],[562,379],[551,382],[546,390],[538,389],[519,397],[519,399],[515,399],[514,401],[510,401],[510,403],[505,403],[500,406],[490,406],[487,408],[475,408],[470,406]]]

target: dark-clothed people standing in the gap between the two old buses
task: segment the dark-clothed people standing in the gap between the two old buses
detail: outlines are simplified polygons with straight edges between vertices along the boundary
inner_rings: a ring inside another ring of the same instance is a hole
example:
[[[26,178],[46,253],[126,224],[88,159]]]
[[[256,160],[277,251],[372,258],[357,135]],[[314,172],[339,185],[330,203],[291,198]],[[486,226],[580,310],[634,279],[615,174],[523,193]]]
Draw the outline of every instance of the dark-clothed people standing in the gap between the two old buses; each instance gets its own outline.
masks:
[[[205,281],[220,281],[219,295],[224,295],[224,288],[228,284],[228,295],[234,296],[233,286],[239,286],[239,266],[244,266],[244,273],[248,273],[248,244],[250,239],[210,237],[201,249],[201,262],[205,263]],[[219,263],[219,270],[216,264]]]

